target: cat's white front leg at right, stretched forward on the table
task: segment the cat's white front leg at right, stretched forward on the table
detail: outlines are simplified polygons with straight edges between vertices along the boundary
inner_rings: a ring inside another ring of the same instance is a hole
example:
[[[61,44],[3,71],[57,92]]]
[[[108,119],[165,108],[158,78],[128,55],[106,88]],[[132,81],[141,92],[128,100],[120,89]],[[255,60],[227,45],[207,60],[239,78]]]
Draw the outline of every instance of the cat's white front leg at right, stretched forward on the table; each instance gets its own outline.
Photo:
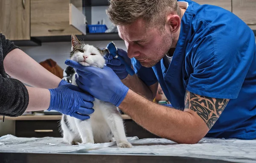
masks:
[[[105,106],[103,104],[105,104]],[[131,148],[131,143],[127,141],[125,135],[122,117],[116,109],[116,106],[102,102],[102,111],[104,112],[103,115],[105,116],[108,126],[116,139],[117,146],[122,148]]]

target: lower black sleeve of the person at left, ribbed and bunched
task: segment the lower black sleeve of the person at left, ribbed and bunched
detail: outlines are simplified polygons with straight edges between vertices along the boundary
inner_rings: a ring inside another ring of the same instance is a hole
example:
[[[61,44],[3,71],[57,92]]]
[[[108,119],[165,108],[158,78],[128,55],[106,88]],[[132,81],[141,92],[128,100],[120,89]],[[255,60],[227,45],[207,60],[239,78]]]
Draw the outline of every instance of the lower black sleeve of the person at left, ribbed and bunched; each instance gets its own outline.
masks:
[[[0,115],[17,117],[25,112],[29,104],[29,93],[17,79],[0,75]]]

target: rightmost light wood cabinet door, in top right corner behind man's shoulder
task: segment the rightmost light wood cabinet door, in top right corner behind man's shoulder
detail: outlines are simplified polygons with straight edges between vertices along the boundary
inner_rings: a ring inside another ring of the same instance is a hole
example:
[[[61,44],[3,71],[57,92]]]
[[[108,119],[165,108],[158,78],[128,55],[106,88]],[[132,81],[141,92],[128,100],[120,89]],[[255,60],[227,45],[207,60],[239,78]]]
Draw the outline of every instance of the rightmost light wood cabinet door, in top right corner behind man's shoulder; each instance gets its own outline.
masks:
[[[233,13],[256,30],[256,0],[232,0]]]

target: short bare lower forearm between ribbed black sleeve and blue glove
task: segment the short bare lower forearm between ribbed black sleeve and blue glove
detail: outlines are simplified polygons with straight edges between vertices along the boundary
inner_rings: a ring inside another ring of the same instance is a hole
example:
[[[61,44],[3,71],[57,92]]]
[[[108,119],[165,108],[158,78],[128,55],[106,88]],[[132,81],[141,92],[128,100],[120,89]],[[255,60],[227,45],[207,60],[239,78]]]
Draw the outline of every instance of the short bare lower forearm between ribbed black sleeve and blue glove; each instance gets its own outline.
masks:
[[[29,92],[29,105],[26,111],[47,110],[50,105],[50,92],[48,89],[26,87]]]

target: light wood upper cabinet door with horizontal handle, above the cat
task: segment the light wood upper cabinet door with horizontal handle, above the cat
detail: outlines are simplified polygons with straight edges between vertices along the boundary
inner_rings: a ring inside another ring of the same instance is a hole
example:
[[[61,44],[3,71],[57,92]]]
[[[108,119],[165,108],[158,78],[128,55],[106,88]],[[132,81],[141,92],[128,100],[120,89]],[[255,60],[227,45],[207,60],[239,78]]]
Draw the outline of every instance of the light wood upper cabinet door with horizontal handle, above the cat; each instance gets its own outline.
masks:
[[[70,0],[31,0],[31,37],[71,34],[82,33],[70,25]]]

